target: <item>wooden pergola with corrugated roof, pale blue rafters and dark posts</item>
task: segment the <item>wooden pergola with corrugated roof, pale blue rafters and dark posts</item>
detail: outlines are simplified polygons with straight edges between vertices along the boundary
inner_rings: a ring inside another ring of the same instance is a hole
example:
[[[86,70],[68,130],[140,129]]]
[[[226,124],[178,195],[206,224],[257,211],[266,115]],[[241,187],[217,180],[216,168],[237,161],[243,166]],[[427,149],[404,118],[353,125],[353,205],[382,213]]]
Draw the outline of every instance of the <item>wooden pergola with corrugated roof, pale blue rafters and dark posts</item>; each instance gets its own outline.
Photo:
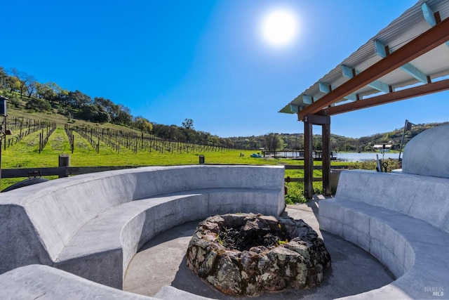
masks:
[[[304,122],[306,197],[313,195],[313,125],[322,127],[323,193],[330,195],[330,116],[449,89],[448,17],[448,0],[418,1],[280,110]]]

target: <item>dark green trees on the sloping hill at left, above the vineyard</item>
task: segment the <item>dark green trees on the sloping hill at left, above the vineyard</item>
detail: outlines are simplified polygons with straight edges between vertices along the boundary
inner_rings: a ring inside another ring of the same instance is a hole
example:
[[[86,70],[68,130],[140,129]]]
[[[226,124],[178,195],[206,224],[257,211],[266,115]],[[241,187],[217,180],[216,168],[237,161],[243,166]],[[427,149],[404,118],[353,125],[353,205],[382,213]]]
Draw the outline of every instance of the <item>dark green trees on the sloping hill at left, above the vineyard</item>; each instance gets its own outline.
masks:
[[[83,119],[94,123],[111,123],[137,129],[158,138],[171,141],[195,142],[202,145],[232,148],[234,144],[227,138],[194,130],[192,119],[185,119],[182,126],[164,125],[150,122],[142,116],[134,117],[130,109],[112,100],[95,97],[82,91],[69,91],[55,82],[41,83],[26,72],[15,68],[5,70],[0,67],[0,91],[8,93],[11,105],[34,112],[56,111],[67,119]]]

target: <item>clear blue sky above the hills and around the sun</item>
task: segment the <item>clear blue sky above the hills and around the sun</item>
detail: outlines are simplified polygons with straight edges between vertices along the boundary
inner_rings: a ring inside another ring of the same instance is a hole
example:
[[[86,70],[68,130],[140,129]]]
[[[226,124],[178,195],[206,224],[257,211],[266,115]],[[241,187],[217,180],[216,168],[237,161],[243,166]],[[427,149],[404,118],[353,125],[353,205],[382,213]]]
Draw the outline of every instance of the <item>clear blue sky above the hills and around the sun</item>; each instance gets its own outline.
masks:
[[[0,66],[39,82],[109,98],[134,116],[221,137],[302,133],[278,111],[415,0],[6,1]],[[264,15],[286,8],[288,46],[262,38]],[[369,136],[448,121],[449,93],[332,117],[331,132]],[[317,132],[318,133],[318,132]]]

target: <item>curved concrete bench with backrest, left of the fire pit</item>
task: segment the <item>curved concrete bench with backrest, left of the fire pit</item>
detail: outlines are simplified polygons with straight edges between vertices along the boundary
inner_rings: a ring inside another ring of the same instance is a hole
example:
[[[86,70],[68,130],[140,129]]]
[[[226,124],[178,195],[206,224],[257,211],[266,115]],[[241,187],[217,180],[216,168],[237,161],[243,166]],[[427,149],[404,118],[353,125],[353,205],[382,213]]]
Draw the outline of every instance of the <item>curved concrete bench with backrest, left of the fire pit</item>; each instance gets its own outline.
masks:
[[[138,249],[213,214],[279,215],[283,167],[145,167],[61,178],[0,195],[0,273],[44,264],[122,288]]]

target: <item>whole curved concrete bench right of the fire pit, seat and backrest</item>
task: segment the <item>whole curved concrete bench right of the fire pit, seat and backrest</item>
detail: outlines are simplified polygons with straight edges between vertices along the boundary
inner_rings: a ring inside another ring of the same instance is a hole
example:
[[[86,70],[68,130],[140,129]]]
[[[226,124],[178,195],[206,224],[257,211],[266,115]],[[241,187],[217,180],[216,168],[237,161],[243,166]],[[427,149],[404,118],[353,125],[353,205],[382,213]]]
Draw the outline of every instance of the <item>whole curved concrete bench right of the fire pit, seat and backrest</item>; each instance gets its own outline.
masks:
[[[441,299],[449,293],[449,179],[343,171],[319,203],[321,230],[375,256],[397,278],[354,299]]]

